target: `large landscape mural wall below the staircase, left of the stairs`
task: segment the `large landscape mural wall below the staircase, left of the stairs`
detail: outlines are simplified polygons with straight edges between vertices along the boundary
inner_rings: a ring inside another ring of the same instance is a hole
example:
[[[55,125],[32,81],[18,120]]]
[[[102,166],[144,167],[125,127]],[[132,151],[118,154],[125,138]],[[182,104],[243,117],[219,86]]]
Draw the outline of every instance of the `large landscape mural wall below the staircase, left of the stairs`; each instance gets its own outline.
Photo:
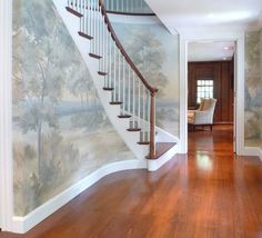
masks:
[[[12,88],[16,216],[107,163],[135,159],[52,1],[13,1]]]

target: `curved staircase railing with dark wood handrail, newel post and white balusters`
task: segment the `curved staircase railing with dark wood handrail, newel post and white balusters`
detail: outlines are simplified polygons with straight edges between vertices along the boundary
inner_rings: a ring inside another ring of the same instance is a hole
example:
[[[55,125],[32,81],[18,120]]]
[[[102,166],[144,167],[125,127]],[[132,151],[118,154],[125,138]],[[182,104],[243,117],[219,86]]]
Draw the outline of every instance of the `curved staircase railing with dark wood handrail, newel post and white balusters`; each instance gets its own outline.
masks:
[[[67,10],[80,18],[79,36],[91,40],[90,57],[99,60],[103,90],[110,105],[120,105],[119,118],[128,118],[128,131],[140,131],[140,145],[150,145],[155,157],[155,92],[118,39],[102,0],[68,0]]]

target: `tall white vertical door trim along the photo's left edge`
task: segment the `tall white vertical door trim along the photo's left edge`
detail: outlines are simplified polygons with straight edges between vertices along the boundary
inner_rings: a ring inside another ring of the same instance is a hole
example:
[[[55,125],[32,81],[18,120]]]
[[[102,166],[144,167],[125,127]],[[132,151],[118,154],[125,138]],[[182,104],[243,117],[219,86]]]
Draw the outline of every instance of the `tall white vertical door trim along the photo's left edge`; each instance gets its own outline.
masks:
[[[12,0],[0,1],[0,228],[12,229]]]

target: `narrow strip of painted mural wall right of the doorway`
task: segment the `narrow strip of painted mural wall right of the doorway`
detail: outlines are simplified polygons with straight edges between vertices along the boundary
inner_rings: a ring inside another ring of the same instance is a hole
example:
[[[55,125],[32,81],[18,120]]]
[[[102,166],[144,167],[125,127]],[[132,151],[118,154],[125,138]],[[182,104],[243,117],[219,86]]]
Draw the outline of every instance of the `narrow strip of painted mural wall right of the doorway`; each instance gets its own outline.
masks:
[[[262,148],[262,30],[245,34],[245,146]]]

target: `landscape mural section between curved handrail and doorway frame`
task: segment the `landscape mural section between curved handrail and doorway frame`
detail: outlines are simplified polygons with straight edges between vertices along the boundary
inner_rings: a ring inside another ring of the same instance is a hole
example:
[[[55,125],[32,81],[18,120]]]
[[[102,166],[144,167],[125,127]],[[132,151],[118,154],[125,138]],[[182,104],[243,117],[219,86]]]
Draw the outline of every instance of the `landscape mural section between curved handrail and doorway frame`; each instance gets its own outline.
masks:
[[[179,137],[179,37],[161,23],[113,23],[124,49],[160,91],[157,125]]]

